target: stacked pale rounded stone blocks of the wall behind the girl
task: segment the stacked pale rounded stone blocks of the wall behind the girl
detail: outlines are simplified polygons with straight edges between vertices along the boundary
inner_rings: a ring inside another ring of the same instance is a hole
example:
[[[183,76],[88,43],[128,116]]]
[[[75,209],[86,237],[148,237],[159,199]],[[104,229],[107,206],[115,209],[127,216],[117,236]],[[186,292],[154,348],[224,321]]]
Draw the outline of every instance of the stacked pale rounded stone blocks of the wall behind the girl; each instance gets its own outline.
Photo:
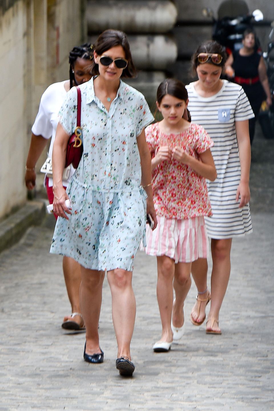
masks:
[[[127,33],[136,79],[127,83],[155,104],[159,83],[166,70],[177,59],[177,44],[171,33],[177,20],[177,9],[171,0],[88,0],[87,28],[89,41],[113,28]]]

